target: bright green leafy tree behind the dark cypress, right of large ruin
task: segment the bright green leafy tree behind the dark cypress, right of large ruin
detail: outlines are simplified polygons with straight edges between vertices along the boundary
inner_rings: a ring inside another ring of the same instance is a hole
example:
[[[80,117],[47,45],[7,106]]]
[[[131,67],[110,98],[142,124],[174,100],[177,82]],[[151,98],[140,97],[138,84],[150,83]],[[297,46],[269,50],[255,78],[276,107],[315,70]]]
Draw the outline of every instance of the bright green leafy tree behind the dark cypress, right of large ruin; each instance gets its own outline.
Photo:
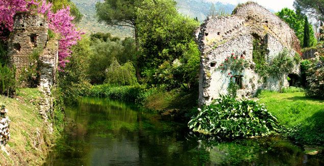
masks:
[[[298,9],[296,9],[296,12],[294,12],[293,10],[288,8],[282,9],[281,11],[277,12],[276,15],[284,20],[290,26],[290,28],[294,30],[295,35],[301,41],[301,47],[303,47],[305,16]],[[310,46],[315,46],[317,40],[311,24],[309,24],[309,33]]]

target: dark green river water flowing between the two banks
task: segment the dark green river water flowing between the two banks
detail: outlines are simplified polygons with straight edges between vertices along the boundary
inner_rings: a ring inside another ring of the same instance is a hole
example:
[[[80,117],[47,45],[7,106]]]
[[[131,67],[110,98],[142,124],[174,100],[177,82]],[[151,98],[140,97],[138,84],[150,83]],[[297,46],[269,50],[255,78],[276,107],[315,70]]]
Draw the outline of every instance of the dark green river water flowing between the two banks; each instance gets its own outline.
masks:
[[[66,109],[63,139],[45,165],[324,165],[322,155],[277,138],[202,139],[128,103],[84,98]]]

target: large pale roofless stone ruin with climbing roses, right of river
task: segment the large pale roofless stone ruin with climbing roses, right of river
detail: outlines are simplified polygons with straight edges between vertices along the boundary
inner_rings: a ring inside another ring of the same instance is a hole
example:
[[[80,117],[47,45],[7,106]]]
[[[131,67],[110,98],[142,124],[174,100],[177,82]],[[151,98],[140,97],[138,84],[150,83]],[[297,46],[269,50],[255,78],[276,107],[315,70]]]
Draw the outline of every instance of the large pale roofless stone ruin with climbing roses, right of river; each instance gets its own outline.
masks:
[[[228,72],[221,72],[219,65],[235,53],[242,55],[250,67],[240,75],[240,89],[237,97],[252,97],[257,90],[279,91],[288,87],[288,74],[298,75],[300,69],[294,66],[291,73],[282,73],[278,77],[269,77],[266,81],[255,71],[253,62],[253,42],[263,41],[267,46],[265,59],[268,63],[284,49],[288,56],[300,53],[300,42],[289,25],[279,17],[261,7],[249,2],[238,6],[231,16],[209,17],[197,31],[196,40],[201,50],[199,103],[209,104],[220,95],[228,94],[230,79]]]

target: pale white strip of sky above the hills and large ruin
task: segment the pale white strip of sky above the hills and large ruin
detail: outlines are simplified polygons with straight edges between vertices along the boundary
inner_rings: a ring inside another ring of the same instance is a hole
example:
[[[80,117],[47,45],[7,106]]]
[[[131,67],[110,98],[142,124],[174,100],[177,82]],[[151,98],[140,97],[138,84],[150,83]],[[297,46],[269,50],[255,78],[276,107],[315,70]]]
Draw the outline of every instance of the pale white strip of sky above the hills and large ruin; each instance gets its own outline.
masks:
[[[249,0],[206,0],[208,2],[221,2],[224,4],[233,4],[237,5],[238,3],[245,3]],[[250,0],[253,2],[257,2],[259,5],[267,8],[267,9],[272,9],[275,12],[280,11],[282,8],[289,8],[293,9],[292,4],[293,0]]]

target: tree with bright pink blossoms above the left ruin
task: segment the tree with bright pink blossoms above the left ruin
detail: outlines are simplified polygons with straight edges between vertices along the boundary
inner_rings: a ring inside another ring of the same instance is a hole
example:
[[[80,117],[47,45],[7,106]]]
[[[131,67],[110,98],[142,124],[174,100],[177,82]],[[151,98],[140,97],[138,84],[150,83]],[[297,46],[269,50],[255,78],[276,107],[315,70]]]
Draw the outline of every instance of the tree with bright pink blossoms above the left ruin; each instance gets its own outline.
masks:
[[[70,8],[66,7],[53,13],[52,4],[45,0],[1,0],[0,1],[0,34],[6,30],[13,30],[13,16],[17,12],[30,11],[32,13],[42,14],[48,21],[49,29],[60,34],[59,39],[59,70],[65,67],[67,58],[71,55],[71,46],[77,44],[83,34],[78,31],[72,23],[73,17],[70,16]],[[0,35],[3,36],[3,35]]]

